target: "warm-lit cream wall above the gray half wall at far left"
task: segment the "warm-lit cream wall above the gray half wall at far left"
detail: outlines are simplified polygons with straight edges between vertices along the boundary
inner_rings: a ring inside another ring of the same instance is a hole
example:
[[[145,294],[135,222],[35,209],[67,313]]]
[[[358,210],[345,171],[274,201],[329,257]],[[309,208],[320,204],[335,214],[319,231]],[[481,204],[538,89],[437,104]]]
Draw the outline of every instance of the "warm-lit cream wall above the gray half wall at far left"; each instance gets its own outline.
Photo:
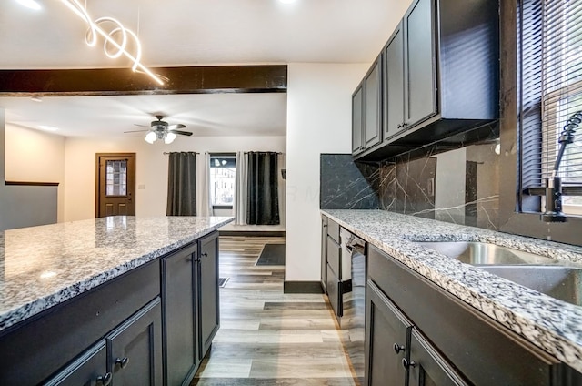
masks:
[[[57,220],[64,219],[65,137],[31,128],[5,125],[5,179],[58,182]]]

